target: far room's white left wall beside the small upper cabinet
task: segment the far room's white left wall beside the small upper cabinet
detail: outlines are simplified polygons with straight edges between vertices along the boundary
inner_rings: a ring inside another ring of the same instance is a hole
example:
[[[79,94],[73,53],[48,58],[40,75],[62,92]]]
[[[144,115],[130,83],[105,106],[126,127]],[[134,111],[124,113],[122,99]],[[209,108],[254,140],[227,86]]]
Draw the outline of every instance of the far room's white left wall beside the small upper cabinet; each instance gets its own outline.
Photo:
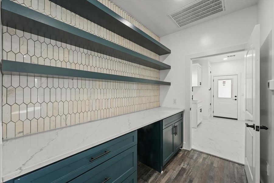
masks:
[[[207,59],[195,59],[193,63],[199,63],[202,66],[202,86],[193,87],[193,100],[202,100],[202,114],[203,119],[208,119],[208,60]]]

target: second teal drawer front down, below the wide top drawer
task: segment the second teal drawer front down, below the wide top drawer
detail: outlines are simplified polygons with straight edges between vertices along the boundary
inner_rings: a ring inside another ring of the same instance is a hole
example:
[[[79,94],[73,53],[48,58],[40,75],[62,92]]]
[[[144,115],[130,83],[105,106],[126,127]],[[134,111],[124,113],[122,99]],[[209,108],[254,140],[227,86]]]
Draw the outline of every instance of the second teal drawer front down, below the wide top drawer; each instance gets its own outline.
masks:
[[[120,183],[137,170],[137,145],[87,171],[69,183]]]

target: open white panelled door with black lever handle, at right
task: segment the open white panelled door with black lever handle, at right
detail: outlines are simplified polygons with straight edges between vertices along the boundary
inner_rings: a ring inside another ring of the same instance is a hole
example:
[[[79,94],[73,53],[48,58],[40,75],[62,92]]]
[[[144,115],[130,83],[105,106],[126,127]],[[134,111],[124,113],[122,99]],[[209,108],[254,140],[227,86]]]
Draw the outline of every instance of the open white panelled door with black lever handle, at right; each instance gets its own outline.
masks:
[[[245,55],[245,172],[249,183],[260,182],[260,25],[256,25]]]

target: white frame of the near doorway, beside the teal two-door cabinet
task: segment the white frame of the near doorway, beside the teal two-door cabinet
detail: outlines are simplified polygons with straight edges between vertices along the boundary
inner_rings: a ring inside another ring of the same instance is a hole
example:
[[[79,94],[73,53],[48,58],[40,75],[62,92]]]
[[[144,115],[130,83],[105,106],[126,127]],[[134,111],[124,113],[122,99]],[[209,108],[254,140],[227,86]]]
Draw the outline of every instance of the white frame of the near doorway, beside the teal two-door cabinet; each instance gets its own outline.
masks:
[[[208,50],[205,52],[199,52],[195,54],[190,54],[186,56],[186,105],[185,105],[185,112],[184,112],[184,118],[185,123],[183,124],[184,129],[184,142],[183,147],[184,149],[191,150],[191,113],[190,113],[190,107],[191,107],[191,84],[192,84],[192,60],[204,58],[208,56],[216,56],[226,53],[232,53],[232,52],[240,52],[245,51],[245,44],[230,46],[226,48],[218,48],[213,50]],[[187,79],[189,78],[189,79]]]

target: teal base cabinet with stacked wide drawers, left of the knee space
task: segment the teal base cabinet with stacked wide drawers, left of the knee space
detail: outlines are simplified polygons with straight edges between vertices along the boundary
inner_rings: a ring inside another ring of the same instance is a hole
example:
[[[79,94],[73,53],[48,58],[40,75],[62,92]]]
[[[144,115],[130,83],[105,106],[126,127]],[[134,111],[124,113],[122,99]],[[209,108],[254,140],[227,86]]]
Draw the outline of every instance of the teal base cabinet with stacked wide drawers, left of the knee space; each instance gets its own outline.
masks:
[[[7,182],[137,182],[136,172],[137,131],[133,131]]]

